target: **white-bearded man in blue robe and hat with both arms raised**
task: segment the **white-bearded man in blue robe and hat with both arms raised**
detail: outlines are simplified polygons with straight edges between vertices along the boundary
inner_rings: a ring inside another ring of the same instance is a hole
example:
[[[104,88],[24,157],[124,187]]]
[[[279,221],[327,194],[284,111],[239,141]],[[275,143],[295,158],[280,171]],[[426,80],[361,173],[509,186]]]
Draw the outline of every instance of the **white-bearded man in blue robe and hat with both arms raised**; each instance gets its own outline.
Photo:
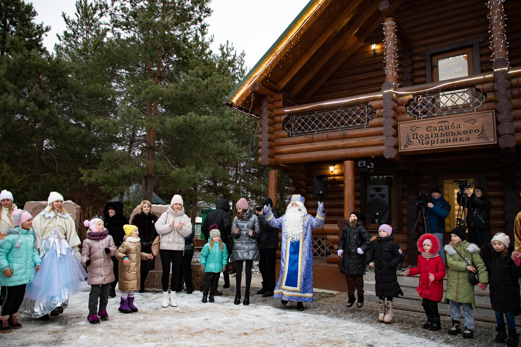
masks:
[[[274,290],[274,299],[283,305],[296,301],[297,309],[304,310],[302,302],[313,302],[313,247],[312,232],[324,224],[324,203],[318,203],[317,216],[307,213],[304,197],[291,195],[284,214],[275,218],[271,206],[264,206],[264,218],[271,227],[282,227],[280,245],[280,276]]]

